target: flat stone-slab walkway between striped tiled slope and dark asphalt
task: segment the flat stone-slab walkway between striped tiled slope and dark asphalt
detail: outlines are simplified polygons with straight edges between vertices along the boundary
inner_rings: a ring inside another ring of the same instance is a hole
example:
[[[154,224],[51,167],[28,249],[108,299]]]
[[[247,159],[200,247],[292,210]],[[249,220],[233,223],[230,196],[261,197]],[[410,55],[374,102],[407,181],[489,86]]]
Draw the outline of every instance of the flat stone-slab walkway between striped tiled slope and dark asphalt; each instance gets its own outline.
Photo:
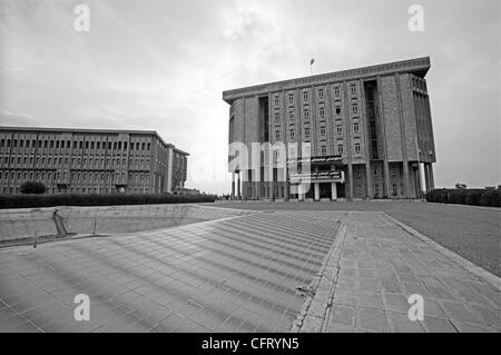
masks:
[[[311,299],[317,309],[296,331],[500,332],[499,278],[494,287],[385,214],[350,213],[342,223],[344,240],[324,270],[330,296]],[[423,296],[423,322],[409,318],[413,294]]]

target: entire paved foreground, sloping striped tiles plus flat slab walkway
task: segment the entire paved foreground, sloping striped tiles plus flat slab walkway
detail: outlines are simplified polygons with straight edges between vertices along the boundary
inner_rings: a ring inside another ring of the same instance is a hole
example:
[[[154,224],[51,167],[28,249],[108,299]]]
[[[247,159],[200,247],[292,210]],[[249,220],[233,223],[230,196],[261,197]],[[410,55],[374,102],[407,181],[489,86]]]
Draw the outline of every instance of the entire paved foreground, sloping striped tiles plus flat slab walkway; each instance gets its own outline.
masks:
[[[276,210],[8,247],[0,332],[500,332],[499,278],[411,229],[380,211]],[[90,321],[75,319],[79,294]]]

